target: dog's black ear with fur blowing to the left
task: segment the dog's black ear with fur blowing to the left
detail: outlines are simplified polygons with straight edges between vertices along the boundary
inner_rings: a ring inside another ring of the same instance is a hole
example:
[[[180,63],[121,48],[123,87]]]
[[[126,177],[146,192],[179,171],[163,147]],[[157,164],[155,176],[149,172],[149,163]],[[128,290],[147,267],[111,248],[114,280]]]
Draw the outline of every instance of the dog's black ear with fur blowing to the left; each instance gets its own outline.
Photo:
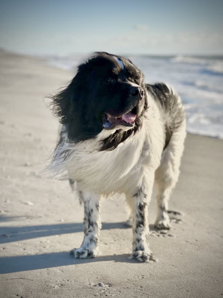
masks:
[[[90,109],[92,69],[88,63],[78,66],[78,72],[70,84],[57,94],[49,96],[50,106],[60,123],[66,126],[70,141],[91,139],[101,130]]]

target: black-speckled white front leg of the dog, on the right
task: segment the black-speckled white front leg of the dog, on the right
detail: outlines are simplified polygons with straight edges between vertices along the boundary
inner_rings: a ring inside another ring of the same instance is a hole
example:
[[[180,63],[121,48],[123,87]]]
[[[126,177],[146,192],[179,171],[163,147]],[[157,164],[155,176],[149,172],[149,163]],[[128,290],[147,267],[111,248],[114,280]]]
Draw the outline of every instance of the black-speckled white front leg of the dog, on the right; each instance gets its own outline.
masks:
[[[147,181],[147,179],[149,180]],[[142,183],[137,187],[135,194],[131,197],[126,196],[131,209],[133,228],[133,253],[130,259],[136,259],[139,262],[155,260],[148,243],[148,204],[152,194],[153,180],[154,173],[150,172],[148,176],[142,179]]]

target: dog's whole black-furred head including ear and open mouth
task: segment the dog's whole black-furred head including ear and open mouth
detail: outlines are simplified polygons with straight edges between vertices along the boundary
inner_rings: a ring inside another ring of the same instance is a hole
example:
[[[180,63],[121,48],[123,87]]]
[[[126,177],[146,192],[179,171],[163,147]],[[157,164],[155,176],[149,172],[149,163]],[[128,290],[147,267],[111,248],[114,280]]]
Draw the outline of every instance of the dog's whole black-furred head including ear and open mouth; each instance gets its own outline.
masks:
[[[50,98],[70,142],[111,131],[98,150],[113,150],[135,134],[148,107],[142,72],[129,59],[106,52],[78,66],[69,86]]]

